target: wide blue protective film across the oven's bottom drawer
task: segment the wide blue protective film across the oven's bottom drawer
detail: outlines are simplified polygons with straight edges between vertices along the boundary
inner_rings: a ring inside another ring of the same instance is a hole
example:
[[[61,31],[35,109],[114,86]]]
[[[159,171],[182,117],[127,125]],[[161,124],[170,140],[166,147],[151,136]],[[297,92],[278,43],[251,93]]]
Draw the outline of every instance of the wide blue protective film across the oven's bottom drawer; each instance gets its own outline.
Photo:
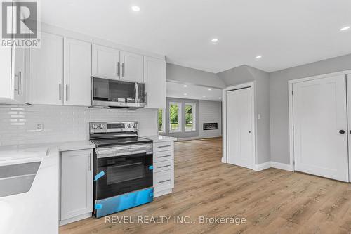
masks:
[[[154,188],[146,188],[131,193],[108,197],[95,202],[101,204],[101,209],[95,210],[95,216],[100,218],[132,207],[140,206],[154,200]]]

